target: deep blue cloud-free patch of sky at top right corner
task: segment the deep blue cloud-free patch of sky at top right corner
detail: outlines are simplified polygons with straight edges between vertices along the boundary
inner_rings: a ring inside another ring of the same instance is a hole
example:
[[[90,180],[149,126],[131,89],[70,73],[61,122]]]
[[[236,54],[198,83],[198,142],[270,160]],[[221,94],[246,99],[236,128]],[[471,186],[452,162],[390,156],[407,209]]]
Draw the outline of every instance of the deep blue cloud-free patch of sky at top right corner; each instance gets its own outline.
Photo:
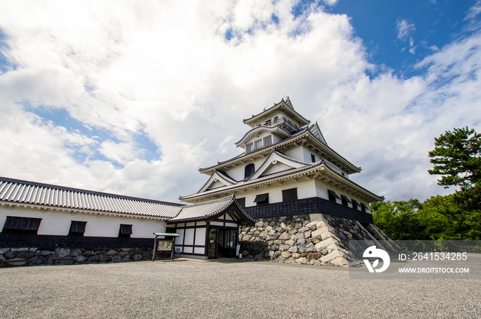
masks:
[[[456,38],[468,36],[465,21],[476,1],[338,1],[328,12],[347,14],[368,60],[404,77],[418,75],[416,62]],[[412,43],[410,43],[412,41]],[[411,51],[410,51],[411,50]]]

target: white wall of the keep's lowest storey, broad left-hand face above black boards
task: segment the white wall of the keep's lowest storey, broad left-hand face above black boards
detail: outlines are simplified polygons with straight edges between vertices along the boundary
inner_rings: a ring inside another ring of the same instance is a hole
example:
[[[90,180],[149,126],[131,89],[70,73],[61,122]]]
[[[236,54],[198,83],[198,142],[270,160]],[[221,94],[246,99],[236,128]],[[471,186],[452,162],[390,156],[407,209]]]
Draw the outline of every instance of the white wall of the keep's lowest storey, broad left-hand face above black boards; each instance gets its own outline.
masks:
[[[258,189],[247,189],[247,191],[239,191],[236,193],[236,198],[245,198],[245,206],[256,206],[254,200],[258,194],[269,193],[269,204],[274,202],[282,202],[282,190],[284,189],[298,189],[298,198],[311,198],[316,196],[316,188],[314,180],[304,179],[298,182],[284,182],[283,185],[273,185],[270,187],[258,187]]]

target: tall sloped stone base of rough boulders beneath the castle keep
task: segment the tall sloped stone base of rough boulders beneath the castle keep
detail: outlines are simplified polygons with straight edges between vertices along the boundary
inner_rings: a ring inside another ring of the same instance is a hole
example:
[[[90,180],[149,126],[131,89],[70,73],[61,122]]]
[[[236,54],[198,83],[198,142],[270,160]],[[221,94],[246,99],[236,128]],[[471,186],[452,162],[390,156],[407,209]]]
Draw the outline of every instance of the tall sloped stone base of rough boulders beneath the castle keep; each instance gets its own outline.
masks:
[[[323,214],[260,219],[239,230],[243,258],[348,265],[348,240],[389,240],[373,224]]]

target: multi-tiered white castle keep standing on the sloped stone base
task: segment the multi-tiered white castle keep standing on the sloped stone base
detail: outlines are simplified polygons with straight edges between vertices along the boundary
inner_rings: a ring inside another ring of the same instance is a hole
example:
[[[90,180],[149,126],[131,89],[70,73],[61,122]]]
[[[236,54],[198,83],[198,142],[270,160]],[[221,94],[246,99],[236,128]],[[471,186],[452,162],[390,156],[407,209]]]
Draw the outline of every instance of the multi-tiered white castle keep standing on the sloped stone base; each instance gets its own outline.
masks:
[[[242,154],[199,169],[207,182],[181,201],[235,196],[253,218],[324,213],[372,223],[369,203],[383,198],[350,180],[361,167],[329,147],[289,97],[243,122],[250,130],[236,143]]]

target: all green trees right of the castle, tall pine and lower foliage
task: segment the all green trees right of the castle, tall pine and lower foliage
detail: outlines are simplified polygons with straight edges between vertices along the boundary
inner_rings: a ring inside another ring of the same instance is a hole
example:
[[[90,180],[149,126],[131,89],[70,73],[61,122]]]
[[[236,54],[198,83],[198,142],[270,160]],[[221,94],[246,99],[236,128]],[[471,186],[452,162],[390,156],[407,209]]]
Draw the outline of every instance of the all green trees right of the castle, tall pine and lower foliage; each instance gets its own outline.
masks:
[[[447,196],[371,205],[374,224],[392,239],[481,239],[481,134],[469,128],[447,131],[429,152],[429,174],[438,185],[459,186]]]

